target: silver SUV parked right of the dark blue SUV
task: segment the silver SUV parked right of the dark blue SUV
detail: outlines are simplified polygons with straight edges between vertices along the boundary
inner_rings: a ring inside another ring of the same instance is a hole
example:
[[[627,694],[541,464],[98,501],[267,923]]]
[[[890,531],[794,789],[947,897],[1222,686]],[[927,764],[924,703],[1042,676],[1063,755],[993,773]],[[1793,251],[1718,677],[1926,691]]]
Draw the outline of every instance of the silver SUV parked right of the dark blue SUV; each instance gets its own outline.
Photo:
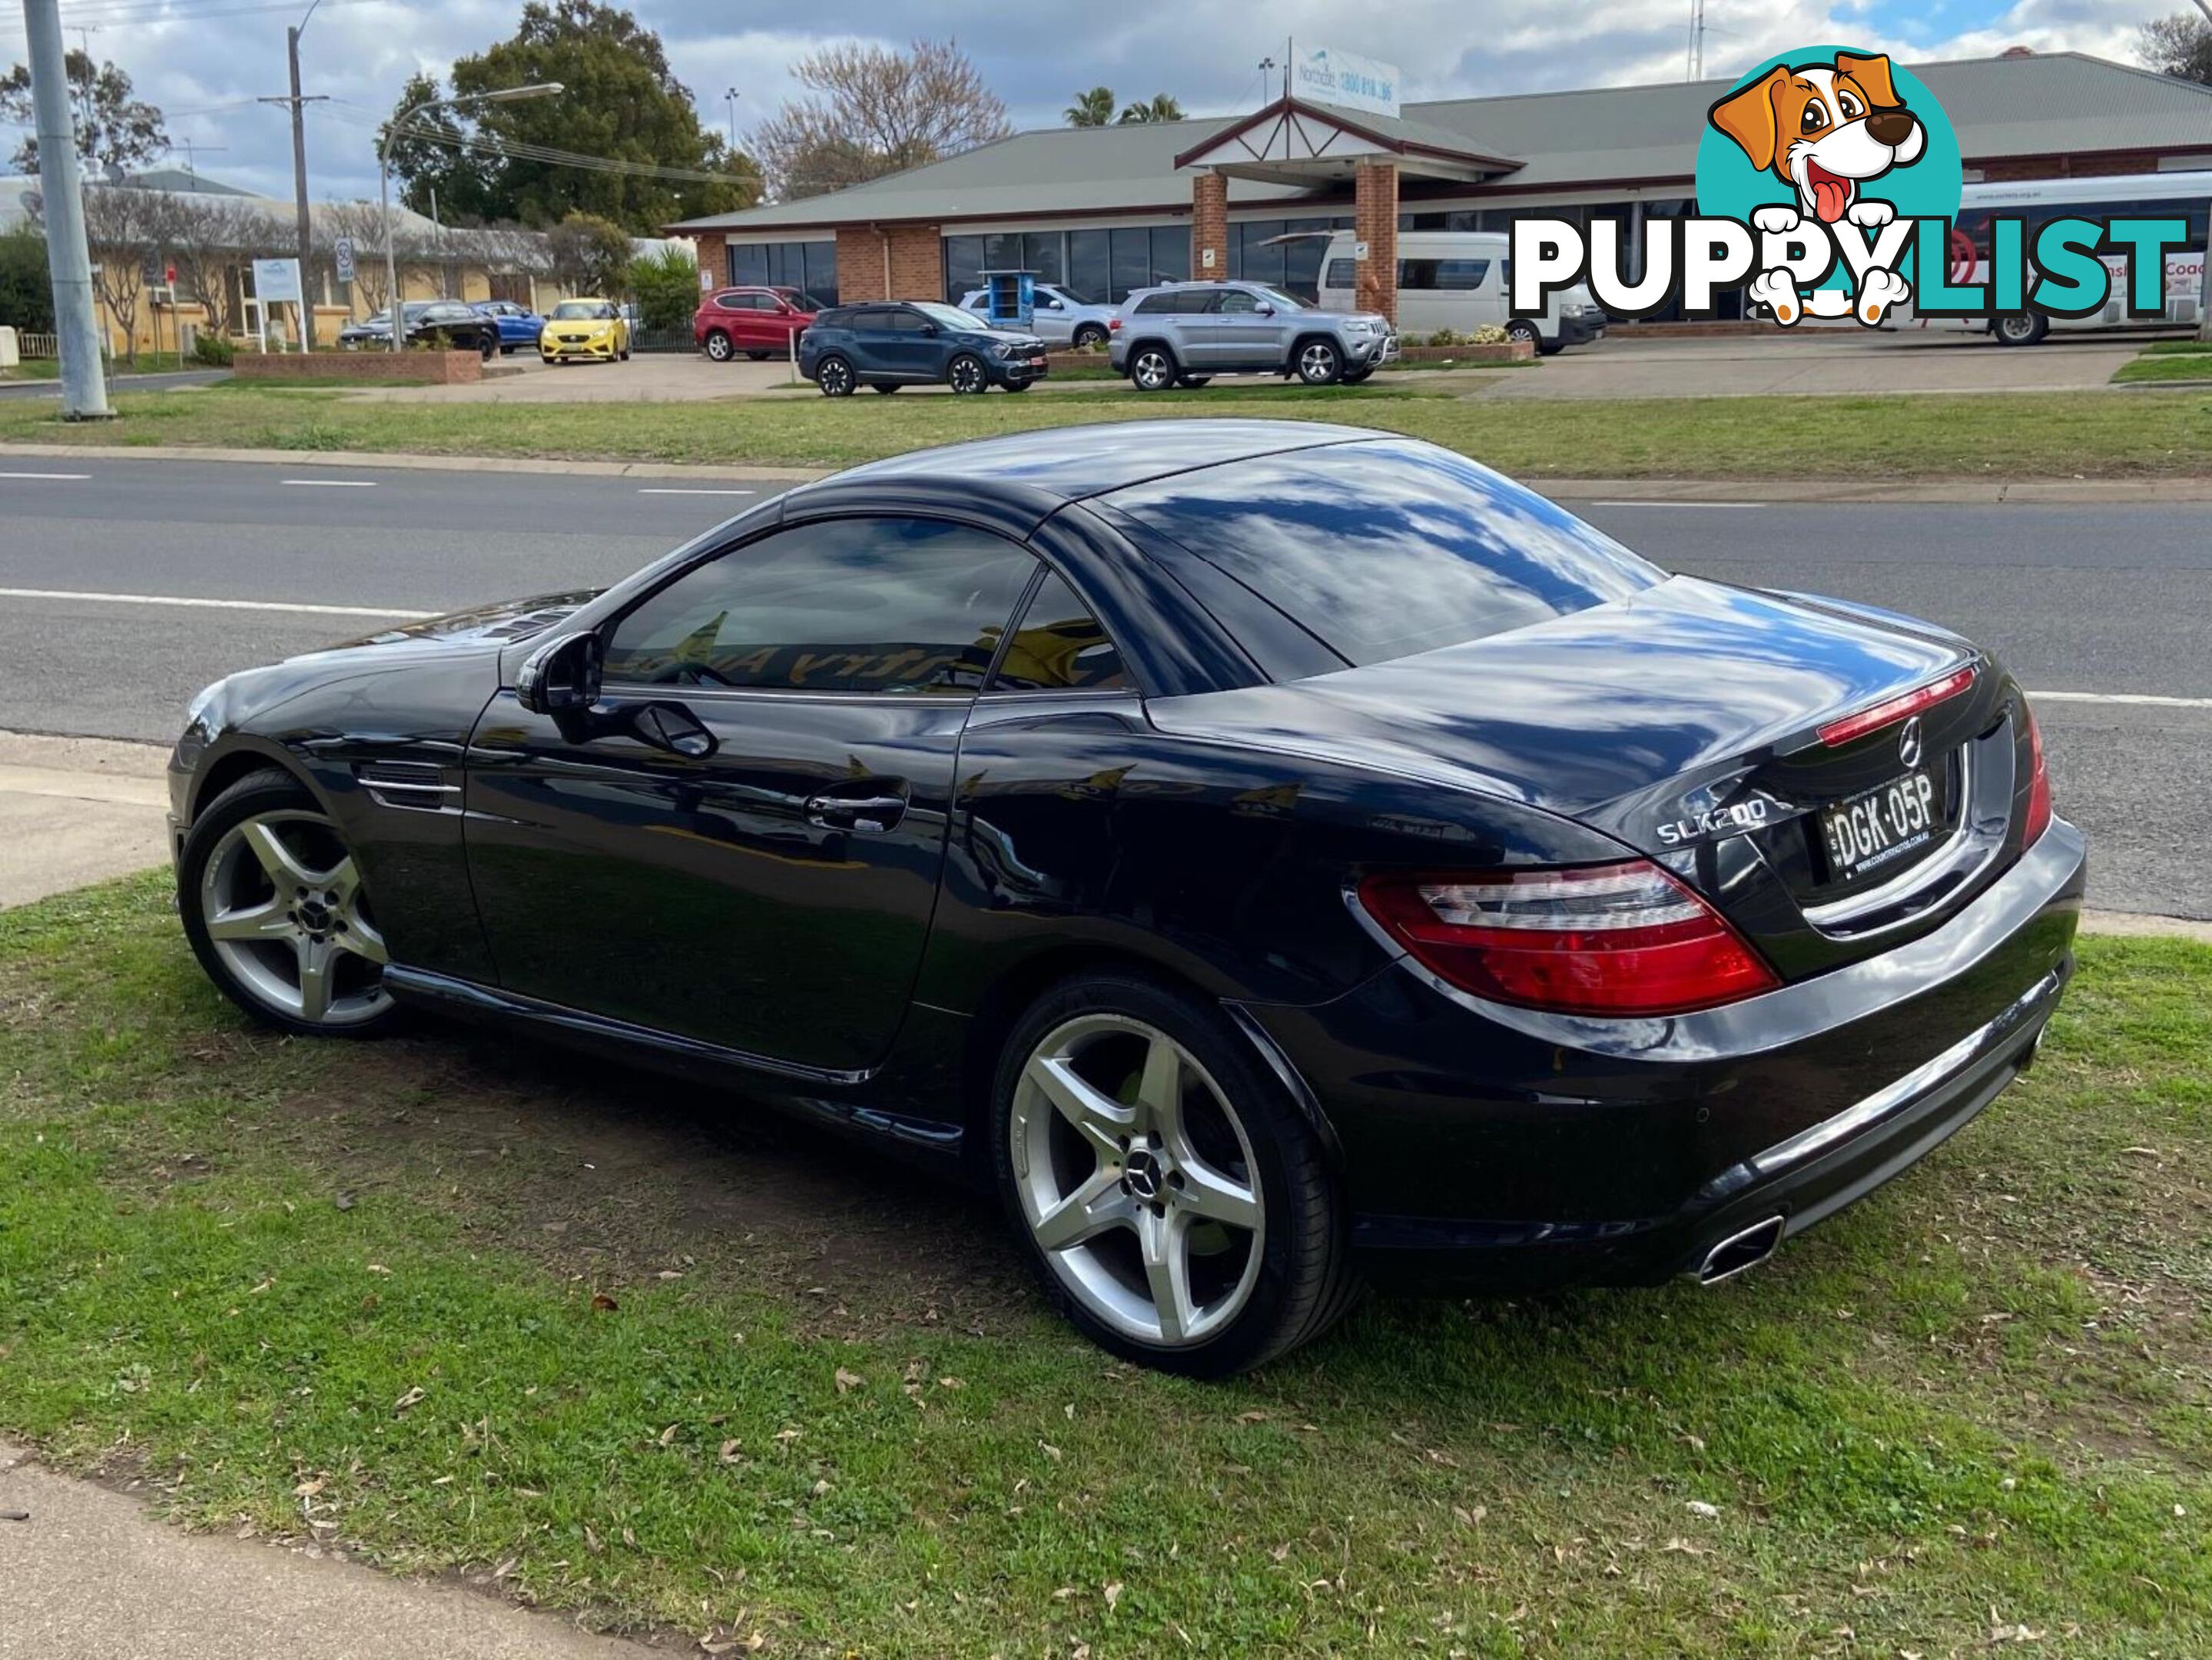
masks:
[[[1121,301],[1108,345],[1139,392],[1206,385],[1217,374],[1296,374],[1307,385],[1356,383],[1398,356],[1398,334],[1374,312],[1323,312],[1267,283],[1168,283]]]

